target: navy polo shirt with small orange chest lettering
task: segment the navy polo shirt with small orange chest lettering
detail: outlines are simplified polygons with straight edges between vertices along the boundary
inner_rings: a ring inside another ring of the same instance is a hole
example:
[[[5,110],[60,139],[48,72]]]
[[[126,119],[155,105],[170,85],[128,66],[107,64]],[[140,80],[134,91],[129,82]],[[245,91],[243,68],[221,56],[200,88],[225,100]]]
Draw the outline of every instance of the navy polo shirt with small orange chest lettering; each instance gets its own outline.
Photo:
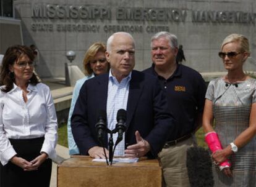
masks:
[[[154,70],[155,65],[143,73],[158,76],[161,87],[166,90],[168,107],[177,124],[168,141],[181,138],[197,128],[195,121],[203,112],[206,85],[200,73],[184,65],[177,65],[173,75],[167,80]]]

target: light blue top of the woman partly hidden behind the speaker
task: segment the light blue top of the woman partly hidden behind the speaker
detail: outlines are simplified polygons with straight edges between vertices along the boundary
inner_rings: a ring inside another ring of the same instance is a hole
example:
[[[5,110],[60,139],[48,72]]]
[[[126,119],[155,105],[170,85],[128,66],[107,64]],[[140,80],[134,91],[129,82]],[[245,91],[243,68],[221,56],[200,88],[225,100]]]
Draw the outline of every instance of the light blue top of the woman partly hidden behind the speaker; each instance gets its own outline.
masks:
[[[75,83],[73,97],[72,97],[72,101],[71,101],[71,105],[70,105],[70,109],[69,109],[69,119],[67,120],[67,141],[69,143],[69,154],[70,155],[71,154],[80,154],[79,148],[77,148],[77,145],[75,144],[74,137],[72,135],[71,126],[70,126],[71,116],[72,116],[72,113],[73,113],[73,110],[75,107],[75,102],[77,101],[77,97],[79,96],[79,92],[80,92],[81,87],[83,86],[83,83],[93,77],[94,77],[94,74],[92,74],[90,76],[85,76],[84,78],[79,79]]]

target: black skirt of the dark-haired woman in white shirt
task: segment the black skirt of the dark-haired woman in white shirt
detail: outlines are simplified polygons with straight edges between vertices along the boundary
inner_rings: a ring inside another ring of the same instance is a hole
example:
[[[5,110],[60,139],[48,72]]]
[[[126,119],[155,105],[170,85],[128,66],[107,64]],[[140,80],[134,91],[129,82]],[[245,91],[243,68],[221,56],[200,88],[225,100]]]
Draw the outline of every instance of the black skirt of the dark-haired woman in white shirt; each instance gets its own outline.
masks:
[[[45,138],[33,139],[9,139],[14,147],[17,156],[26,159],[28,162],[40,155],[40,150]],[[1,187],[48,187],[51,180],[51,159],[46,159],[35,171],[24,171],[19,166],[9,161],[1,166],[0,183]]]

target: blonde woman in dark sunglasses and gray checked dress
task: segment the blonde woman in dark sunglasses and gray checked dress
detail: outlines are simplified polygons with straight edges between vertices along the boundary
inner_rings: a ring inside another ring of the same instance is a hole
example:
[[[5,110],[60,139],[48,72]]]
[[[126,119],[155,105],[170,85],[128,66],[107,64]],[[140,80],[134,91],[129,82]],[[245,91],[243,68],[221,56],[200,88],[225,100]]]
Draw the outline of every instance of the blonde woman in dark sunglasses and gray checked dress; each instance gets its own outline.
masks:
[[[205,95],[206,140],[214,135],[222,145],[212,154],[215,186],[256,186],[256,80],[243,71],[249,55],[245,36],[227,36],[219,56],[228,74],[211,81]],[[230,165],[220,170],[224,161]]]

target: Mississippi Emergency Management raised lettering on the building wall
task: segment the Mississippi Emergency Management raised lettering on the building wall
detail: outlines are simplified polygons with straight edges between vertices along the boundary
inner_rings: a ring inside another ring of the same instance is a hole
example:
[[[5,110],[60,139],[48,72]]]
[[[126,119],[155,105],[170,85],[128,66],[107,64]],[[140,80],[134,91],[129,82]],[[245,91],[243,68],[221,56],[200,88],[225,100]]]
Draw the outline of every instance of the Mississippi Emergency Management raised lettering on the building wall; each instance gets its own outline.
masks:
[[[32,31],[156,33],[169,22],[255,24],[256,13],[143,7],[32,4]],[[112,22],[116,24],[111,24]],[[100,24],[102,23],[102,24]]]

